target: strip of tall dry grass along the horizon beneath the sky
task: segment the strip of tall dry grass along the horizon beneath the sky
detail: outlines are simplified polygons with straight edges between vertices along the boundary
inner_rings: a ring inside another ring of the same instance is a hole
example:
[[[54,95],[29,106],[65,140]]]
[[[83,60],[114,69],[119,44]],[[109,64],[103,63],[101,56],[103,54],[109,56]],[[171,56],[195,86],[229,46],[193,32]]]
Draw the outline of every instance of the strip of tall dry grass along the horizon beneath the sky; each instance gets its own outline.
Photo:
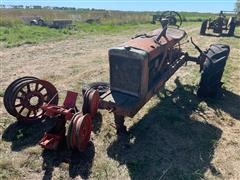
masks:
[[[138,24],[152,21],[153,14],[160,12],[131,12],[108,10],[48,10],[48,9],[1,9],[0,25],[14,26],[23,19],[40,16],[45,20],[72,19],[85,22],[92,19],[103,24]],[[184,21],[201,21],[214,17],[211,13],[180,12]]]

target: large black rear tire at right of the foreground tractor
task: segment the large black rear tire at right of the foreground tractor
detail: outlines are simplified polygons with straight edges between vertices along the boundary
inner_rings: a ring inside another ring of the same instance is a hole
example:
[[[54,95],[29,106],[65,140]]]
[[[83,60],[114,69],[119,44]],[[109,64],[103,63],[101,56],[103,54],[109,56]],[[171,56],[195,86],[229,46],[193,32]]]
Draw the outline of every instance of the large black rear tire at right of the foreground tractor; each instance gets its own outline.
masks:
[[[228,59],[230,47],[224,44],[211,45],[207,50],[197,96],[200,98],[215,98],[219,95],[222,86],[222,75]]]

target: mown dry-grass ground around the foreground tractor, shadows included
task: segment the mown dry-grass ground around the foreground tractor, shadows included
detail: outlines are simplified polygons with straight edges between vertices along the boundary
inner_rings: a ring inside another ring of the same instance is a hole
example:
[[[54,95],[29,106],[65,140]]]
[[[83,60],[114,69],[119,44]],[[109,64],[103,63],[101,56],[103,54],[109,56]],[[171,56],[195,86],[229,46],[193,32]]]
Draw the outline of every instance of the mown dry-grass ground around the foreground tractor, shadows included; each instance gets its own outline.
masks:
[[[31,75],[52,82],[61,97],[67,89],[80,92],[84,83],[109,80],[108,48],[159,27],[150,23],[77,26],[75,30],[33,30],[23,24],[0,28],[8,33],[0,52],[0,179],[240,179],[239,27],[235,37],[216,37],[200,36],[200,22],[183,24],[202,49],[213,43],[231,46],[223,97],[199,99],[199,66],[188,63],[134,118],[126,118],[128,136],[117,137],[111,126],[113,115],[99,111],[85,153],[67,150],[64,142],[58,151],[39,147],[37,142],[54,122],[17,123],[3,107],[7,85]],[[14,34],[22,34],[22,41]],[[24,44],[27,39],[36,44]],[[190,43],[182,48],[198,54]]]

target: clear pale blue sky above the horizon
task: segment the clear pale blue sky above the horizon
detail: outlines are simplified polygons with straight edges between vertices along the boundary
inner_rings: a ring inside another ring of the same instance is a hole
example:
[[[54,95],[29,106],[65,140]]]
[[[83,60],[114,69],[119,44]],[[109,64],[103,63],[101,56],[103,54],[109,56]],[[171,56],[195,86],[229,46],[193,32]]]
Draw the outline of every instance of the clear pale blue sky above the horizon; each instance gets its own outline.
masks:
[[[236,0],[0,0],[4,5],[41,5],[125,11],[219,12],[233,10]]]

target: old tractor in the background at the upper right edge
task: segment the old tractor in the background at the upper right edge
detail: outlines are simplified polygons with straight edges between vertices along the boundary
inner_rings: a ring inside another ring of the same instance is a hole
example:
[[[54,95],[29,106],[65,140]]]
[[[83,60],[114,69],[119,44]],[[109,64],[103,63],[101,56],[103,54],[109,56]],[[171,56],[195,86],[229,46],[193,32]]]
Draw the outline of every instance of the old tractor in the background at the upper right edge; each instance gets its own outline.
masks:
[[[237,21],[236,17],[230,16],[227,18],[226,13],[230,12],[233,13],[234,11],[221,11],[216,19],[204,20],[201,25],[200,34],[206,35],[206,30],[212,29],[214,33],[219,35],[227,34],[228,36],[233,36]]]

